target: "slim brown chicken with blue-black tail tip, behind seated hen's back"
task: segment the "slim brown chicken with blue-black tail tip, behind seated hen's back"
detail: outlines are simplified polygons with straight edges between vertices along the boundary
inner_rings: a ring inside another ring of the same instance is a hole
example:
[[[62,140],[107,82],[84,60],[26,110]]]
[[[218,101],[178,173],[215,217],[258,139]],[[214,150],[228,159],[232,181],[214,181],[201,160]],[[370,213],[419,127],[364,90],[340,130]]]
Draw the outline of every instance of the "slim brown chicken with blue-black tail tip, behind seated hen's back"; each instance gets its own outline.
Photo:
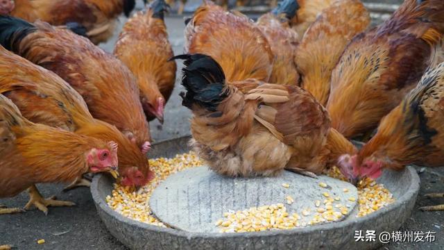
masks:
[[[277,8],[257,19],[257,27],[264,33],[275,58],[269,83],[299,84],[299,74],[293,60],[299,37],[289,26],[289,20],[296,15],[296,7],[295,0],[284,0]]]

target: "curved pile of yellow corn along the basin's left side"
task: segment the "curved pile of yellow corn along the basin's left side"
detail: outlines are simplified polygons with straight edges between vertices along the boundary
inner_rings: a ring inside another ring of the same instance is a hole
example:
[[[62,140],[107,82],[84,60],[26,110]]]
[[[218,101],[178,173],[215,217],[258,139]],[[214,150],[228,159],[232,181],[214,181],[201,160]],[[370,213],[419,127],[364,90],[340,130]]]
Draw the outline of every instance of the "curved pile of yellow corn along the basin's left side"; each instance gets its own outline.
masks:
[[[151,212],[149,199],[153,190],[170,174],[180,172],[189,167],[198,167],[202,165],[202,162],[196,154],[190,152],[176,155],[175,158],[171,159],[150,159],[149,164],[150,169],[155,172],[155,178],[151,183],[140,188],[137,192],[131,188],[114,184],[112,195],[106,197],[106,202],[113,210],[125,217],[155,226],[165,226]]]

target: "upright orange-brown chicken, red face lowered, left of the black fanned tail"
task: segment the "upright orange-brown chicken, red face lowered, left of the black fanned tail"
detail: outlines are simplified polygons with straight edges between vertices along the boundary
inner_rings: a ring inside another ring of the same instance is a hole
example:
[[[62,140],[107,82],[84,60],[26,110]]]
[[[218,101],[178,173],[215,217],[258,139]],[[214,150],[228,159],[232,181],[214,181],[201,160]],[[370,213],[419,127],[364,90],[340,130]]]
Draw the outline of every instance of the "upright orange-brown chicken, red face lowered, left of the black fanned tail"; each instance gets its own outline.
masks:
[[[176,62],[168,41],[164,11],[169,6],[164,0],[155,0],[146,13],[137,12],[123,26],[114,55],[137,78],[140,101],[146,118],[164,121],[164,107],[176,81]]]

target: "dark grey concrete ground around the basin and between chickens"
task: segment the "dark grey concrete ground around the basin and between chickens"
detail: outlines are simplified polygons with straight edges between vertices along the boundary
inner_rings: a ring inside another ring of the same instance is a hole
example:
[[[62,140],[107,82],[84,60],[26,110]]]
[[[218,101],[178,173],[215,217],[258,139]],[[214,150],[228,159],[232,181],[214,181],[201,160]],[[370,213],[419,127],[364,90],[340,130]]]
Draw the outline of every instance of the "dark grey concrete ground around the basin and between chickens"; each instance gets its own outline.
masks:
[[[140,6],[138,6],[140,7]],[[121,20],[121,24],[124,23]],[[183,18],[167,17],[170,40],[176,54],[182,53]],[[112,51],[117,37],[101,47]],[[178,64],[179,69],[181,64]],[[178,73],[178,79],[180,78]],[[180,105],[178,93],[182,90],[177,82],[171,100],[167,103],[164,126],[158,122],[151,123],[154,140],[166,140],[189,134],[189,110]],[[444,203],[444,199],[429,200],[422,197],[427,192],[444,192],[444,168],[422,169],[420,174],[421,190],[411,219],[400,231],[433,231],[436,241],[433,243],[391,243],[381,249],[444,249],[444,212],[423,213],[420,206]],[[96,208],[87,188],[71,192],[61,192],[62,185],[40,185],[45,197],[53,194],[58,199],[74,201],[77,205],[71,208],[49,208],[45,216],[39,210],[30,210],[23,214],[0,216],[0,245],[11,244],[16,249],[126,249],[117,242],[96,214]],[[28,201],[26,192],[12,199],[0,199],[8,207],[22,207]],[[371,230],[372,228],[363,228]],[[37,244],[44,239],[46,243]]]

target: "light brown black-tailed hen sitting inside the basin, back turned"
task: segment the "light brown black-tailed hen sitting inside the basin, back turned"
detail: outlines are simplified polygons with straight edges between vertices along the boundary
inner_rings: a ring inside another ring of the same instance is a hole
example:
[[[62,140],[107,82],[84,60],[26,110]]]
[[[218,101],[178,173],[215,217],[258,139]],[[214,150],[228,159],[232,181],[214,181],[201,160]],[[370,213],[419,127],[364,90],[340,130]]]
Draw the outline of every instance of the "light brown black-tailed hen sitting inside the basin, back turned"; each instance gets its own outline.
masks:
[[[273,176],[290,169],[313,176],[337,163],[331,156],[356,152],[341,134],[330,131],[325,108],[298,86],[256,79],[229,83],[210,56],[176,58],[185,59],[182,85],[187,92],[181,96],[194,115],[191,146],[214,171]],[[245,84],[255,87],[244,94],[237,86]]]

